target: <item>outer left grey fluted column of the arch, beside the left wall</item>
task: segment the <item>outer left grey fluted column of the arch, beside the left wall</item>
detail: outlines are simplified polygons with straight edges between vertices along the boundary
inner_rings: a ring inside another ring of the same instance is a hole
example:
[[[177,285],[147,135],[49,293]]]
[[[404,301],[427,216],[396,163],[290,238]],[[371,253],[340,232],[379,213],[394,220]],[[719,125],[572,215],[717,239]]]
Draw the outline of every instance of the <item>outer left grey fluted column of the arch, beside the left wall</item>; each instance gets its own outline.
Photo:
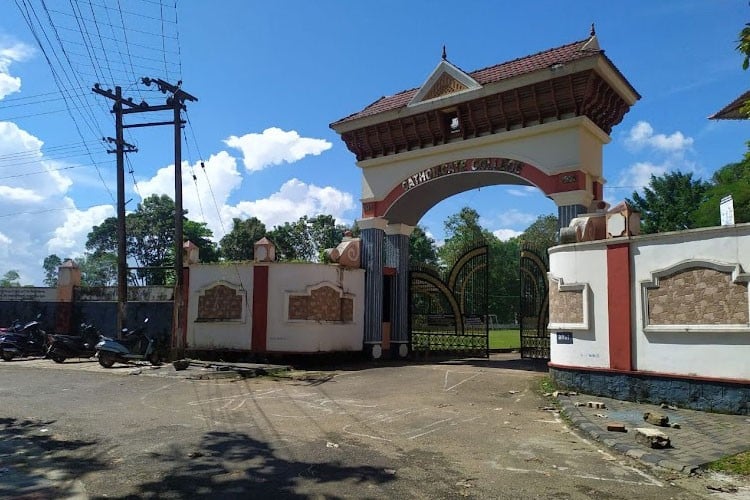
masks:
[[[364,348],[374,359],[383,354],[383,239],[387,224],[382,217],[357,220],[365,270]]]

